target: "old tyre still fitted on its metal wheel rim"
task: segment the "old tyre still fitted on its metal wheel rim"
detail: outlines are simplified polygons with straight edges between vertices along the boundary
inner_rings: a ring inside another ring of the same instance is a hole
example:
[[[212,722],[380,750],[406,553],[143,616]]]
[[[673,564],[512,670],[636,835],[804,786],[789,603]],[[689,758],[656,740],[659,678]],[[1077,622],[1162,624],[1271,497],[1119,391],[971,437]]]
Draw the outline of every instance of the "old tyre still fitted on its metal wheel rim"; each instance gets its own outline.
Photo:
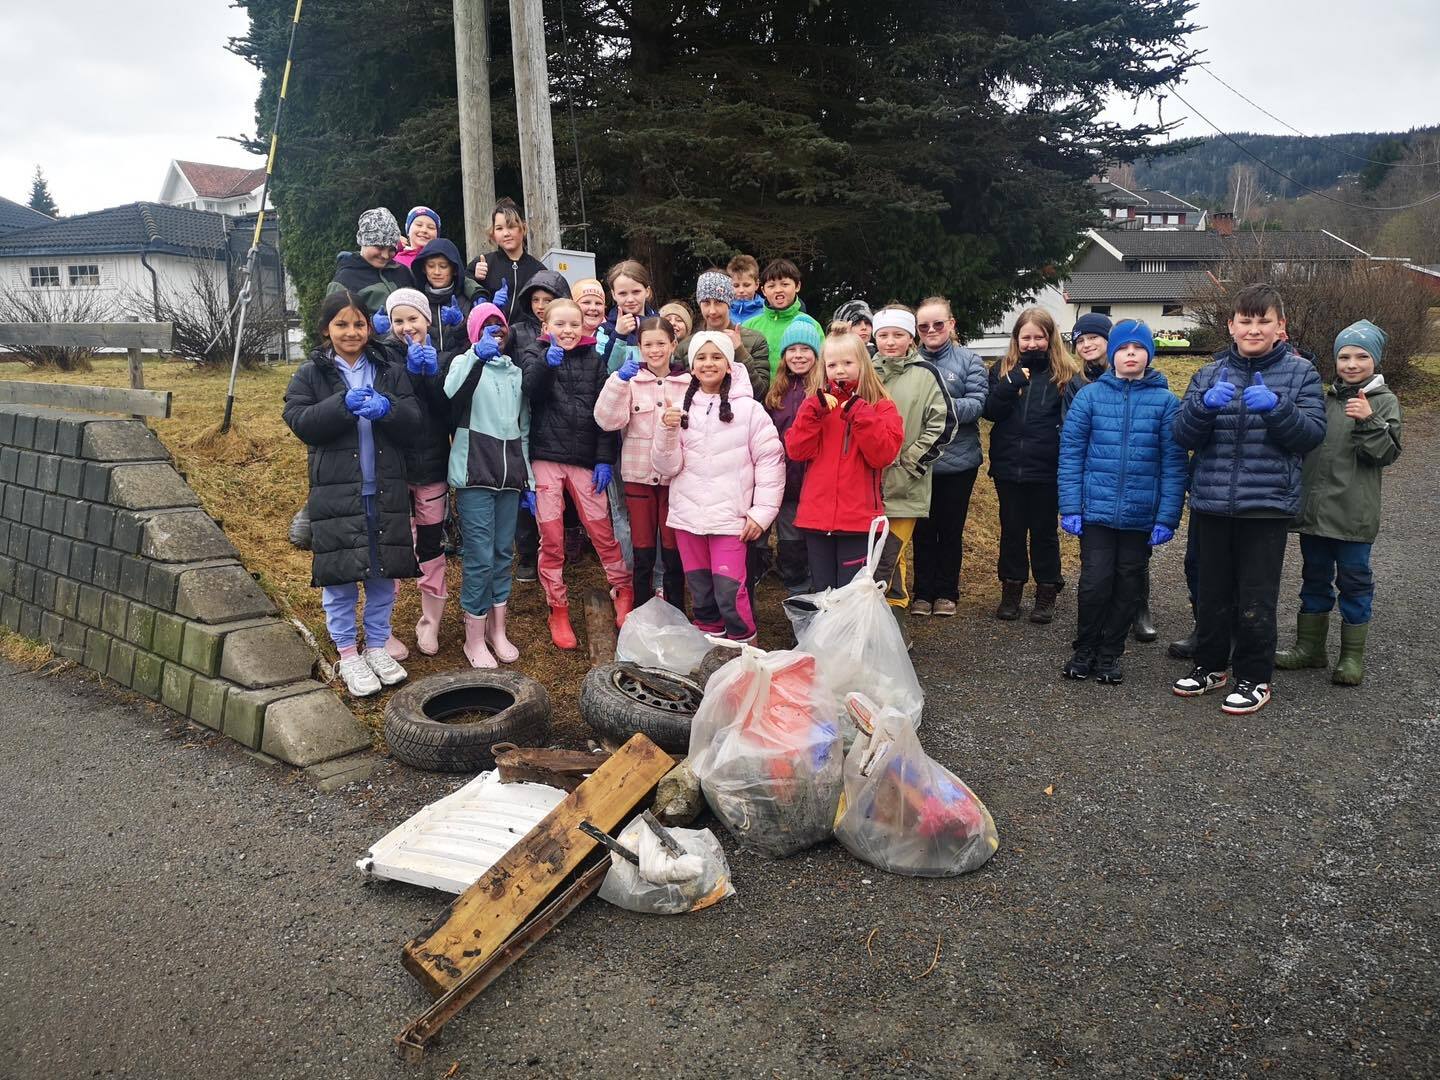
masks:
[[[660,749],[690,749],[700,687],[683,675],[638,664],[600,664],[580,685],[580,717],[603,739],[644,734]]]

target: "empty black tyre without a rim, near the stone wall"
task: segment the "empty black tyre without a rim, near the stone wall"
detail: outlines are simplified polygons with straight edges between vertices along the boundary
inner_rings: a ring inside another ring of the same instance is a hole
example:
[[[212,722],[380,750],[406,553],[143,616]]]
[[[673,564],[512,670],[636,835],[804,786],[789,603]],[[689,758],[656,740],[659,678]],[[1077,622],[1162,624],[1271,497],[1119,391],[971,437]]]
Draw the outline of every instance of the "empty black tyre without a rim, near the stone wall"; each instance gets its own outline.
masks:
[[[544,746],[549,734],[550,694],[513,671],[429,675],[384,706],[390,753],[432,772],[480,772],[494,765],[495,743]]]

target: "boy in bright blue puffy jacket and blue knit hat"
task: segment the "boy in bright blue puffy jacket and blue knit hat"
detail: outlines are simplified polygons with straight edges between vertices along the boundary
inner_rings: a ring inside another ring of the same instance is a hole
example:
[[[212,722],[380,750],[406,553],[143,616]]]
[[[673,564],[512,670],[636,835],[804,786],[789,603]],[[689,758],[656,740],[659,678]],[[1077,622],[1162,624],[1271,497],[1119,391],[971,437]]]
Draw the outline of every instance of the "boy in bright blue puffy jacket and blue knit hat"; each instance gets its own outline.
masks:
[[[1175,536],[1185,504],[1179,403],[1151,367],[1155,337],[1132,318],[1110,331],[1109,366],[1070,405],[1060,432],[1060,527],[1080,537],[1074,655],[1066,678],[1119,683],[1149,549]]]

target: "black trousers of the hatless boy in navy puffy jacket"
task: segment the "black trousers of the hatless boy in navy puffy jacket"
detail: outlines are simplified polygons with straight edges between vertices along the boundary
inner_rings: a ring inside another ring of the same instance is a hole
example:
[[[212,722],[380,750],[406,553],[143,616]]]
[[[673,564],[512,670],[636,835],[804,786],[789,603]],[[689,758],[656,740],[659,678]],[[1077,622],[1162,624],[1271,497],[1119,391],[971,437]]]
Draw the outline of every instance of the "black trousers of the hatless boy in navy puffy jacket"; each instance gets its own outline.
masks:
[[[1287,518],[1191,511],[1195,537],[1195,664],[1234,667],[1237,680],[1274,675],[1274,606],[1280,596]]]

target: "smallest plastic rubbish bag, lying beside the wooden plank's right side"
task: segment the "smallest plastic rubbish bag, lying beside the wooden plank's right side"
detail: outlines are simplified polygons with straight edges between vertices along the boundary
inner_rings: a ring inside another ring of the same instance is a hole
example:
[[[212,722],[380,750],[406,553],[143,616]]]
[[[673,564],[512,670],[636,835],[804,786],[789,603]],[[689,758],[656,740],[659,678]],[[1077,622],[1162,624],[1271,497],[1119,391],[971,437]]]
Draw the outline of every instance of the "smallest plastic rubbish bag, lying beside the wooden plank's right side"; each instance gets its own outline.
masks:
[[[641,818],[616,840],[639,855],[636,867],[611,852],[611,868],[600,883],[600,899],[641,914],[684,914],[734,896],[724,850],[710,829],[670,829],[685,850],[675,858]]]

